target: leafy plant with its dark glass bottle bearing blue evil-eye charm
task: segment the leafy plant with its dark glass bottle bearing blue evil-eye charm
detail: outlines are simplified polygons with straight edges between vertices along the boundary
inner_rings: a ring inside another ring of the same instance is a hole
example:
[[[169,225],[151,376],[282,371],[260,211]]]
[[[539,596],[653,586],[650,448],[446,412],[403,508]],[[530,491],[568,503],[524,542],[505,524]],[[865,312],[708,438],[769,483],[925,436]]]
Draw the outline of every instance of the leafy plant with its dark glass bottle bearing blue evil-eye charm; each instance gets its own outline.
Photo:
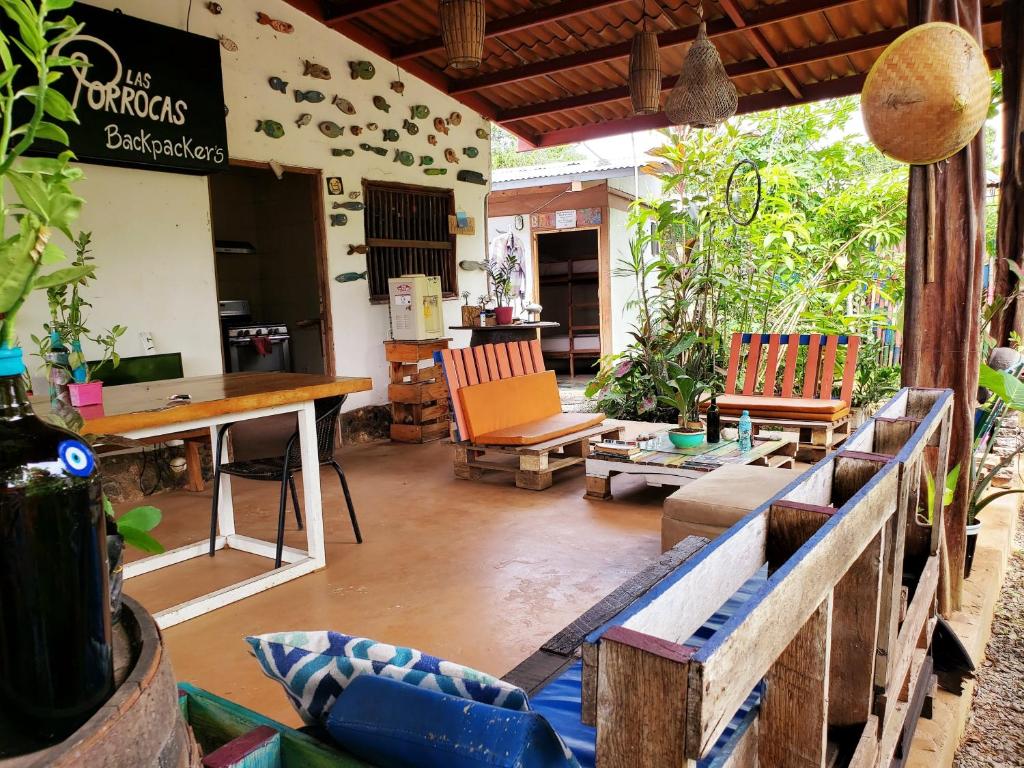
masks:
[[[52,89],[75,65],[54,49],[81,27],[51,17],[70,5],[0,3],[10,22],[0,35],[0,706],[20,730],[49,742],[72,733],[114,690],[95,457],[79,435],[33,412],[15,327],[33,291],[92,271],[88,264],[55,268],[65,254],[54,236],[74,238],[83,202],[72,154],[25,157],[37,139],[67,145],[58,123],[76,120]]]

